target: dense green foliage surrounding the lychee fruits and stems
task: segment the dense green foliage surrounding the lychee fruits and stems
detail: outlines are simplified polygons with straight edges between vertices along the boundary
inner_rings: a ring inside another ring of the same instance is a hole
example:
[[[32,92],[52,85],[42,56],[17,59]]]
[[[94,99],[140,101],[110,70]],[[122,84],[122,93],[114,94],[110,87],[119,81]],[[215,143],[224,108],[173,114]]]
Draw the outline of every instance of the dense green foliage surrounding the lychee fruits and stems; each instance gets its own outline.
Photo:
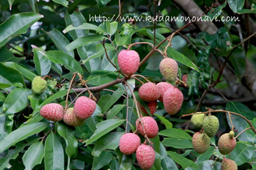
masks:
[[[85,24],[82,29],[74,28],[89,22],[90,15],[117,16],[118,3],[116,0],[0,2],[0,169],[140,169],[134,154],[126,156],[118,149],[126,126],[125,95],[129,95],[128,121],[132,124],[128,125],[128,131],[135,130],[137,120],[135,103],[121,82],[106,87],[108,90],[94,92],[98,106],[84,126],[52,124],[38,114],[47,103],[65,106],[74,72],[81,73],[89,87],[118,78],[101,44],[104,38],[108,56],[116,65],[116,50],[134,42],[154,44],[154,22],[136,22],[128,29],[122,27],[124,22],[90,22],[95,26]],[[154,1],[123,1],[123,16],[154,16],[160,11],[165,16],[179,18],[200,16],[205,6],[211,7],[212,3],[216,5],[207,16],[235,16],[240,21],[194,22],[172,39],[167,55],[178,61],[180,78],[182,74],[188,75],[189,87],[180,86],[185,100],[177,115],[169,116],[163,104],[158,103],[155,120],[160,132],[152,139],[156,151],[152,169],[220,169],[222,157],[214,166],[210,165],[219,156],[218,138],[230,131],[227,115],[216,114],[220,128],[216,137],[211,138],[212,146],[204,154],[197,154],[191,144],[191,136],[197,130],[186,123],[190,117],[180,118],[183,114],[204,111],[205,107],[224,109],[244,115],[256,126],[255,35],[251,41],[236,46],[256,31],[255,1],[162,1],[156,10]],[[156,44],[185,24],[187,22],[157,22]],[[163,51],[166,45],[167,42],[163,43],[159,49]],[[140,44],[132,49],[143,60],[152,48]],[[163,56],[155,52],[138,74],[155,83],[164,81],[158,67],[162,59]],[[36,75],[52,78],[40,96],[31,92],[31,82]],[[133,79],[128,82],[138,96],[140,82]],[[79,94],[80,87],[78,83],[74,85],[69,102]],[[149,110],[146,103],[140,98],[137,100]],[[249,127],[235,115],[232,122],[236,134]],[[255,169],[254,132],[246,131],[238,140],[227,157],[234,160],[239,169]]]

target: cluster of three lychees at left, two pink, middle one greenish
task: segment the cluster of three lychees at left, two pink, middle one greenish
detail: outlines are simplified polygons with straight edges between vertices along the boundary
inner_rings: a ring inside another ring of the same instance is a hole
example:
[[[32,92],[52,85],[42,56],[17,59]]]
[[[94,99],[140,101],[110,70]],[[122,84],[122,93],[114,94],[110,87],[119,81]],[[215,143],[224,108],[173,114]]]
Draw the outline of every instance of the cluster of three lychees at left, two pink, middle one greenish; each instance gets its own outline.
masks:
[[[82,126],[85,119],[90,117],[96,109],[96,102],[88,97],[77,98],[74,107],[64,110],[57,103],[49,103],[41,107],[40,115],[51,121],[64,121],[69,126]]]

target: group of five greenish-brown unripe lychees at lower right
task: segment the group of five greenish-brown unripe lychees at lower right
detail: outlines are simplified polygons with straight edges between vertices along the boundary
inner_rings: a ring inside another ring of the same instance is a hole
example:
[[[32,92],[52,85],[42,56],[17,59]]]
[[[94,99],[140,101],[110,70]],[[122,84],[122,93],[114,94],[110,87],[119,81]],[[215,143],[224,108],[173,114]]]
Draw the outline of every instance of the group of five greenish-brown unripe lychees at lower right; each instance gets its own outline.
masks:
[[[191,123],[194,127],[202,130],[196,132],[193,135],[192,143],[194,151],[202,154],[210,147],[210,137],[214,137],[219,129],[219,120],[214,115],[205,116],[205,114],[194,114],[191,117]],[[221,135],[218,141],[219,152],[223,155],[229,154],[233,151],[236,145],[235,133],[230,131],[229,133]],[[235,170],[237,165],[235,161],[224,157],[221,163],[222,170]]]

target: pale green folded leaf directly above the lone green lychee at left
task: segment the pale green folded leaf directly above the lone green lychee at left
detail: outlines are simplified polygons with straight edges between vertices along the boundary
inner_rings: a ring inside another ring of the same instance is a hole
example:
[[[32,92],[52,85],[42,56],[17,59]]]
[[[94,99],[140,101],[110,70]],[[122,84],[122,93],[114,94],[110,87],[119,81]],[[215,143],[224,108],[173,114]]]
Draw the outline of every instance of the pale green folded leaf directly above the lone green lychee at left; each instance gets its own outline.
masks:
[[[43,50],[37,48],[34,48],[33,50],[35,70],[37,70],[38,75],[47,75],[51,70],[51,61],[41,53]]]

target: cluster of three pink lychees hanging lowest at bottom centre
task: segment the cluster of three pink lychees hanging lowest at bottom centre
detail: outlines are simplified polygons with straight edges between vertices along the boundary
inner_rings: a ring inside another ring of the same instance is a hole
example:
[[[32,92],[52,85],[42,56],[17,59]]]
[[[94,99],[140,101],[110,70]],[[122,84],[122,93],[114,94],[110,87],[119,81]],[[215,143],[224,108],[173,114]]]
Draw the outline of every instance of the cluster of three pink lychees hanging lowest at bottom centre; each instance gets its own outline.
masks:
[[[157,122],[152,117],[138,118],[136,127],[138,133],[143,137],[154,138],[158,134]],[[154,165],[154,148],[146,144],[146,140],[141,144],[140,137],[137,134],[127,133],[122,135],[119,141],[119,149],[125,155],[136,152],[136,158],[141,169],[150,169]]]

